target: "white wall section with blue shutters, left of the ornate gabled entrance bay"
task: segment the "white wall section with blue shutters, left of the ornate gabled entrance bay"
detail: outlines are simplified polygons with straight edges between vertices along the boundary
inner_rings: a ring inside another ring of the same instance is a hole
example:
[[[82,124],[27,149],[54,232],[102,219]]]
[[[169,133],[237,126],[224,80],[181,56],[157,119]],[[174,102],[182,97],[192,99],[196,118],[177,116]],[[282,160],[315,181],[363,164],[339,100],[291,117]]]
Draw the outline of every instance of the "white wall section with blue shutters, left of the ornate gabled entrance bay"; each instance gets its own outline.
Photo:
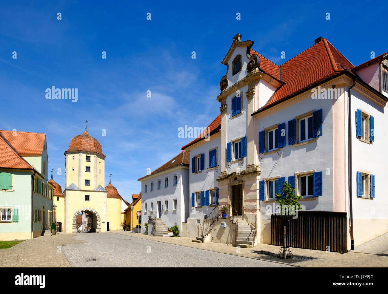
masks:
[[[190,150],[190,201],[189,201],[189,207],[190,207],[190,218],[191,219],[201,219],[201,223],[203,221],[203,217],[205,214],[209,215],[211,210],[214,209],[212,206],[204,205],[203,207],[192,207],[191,206],[191,193],[195,191],[206,191],[213,188],[218,188],[218,182],[217,178],[220,176],[221,172],[221,152],[220,152],[220,146],[221,146],[221,137],[218,136],[215,139],[211,139],[210,141],[206,142],[191,149]],[[217,169],[211,169],[209,170],[209,151],[214,149],[217,149]],[[191,172],[191,158],[195,157],[196,155],[199,155],[201,153],[204,153],[205,155],[205,169],[201,172],[192,173]],[[205,196],[206,196],[206,192]],[[210,195],[209,195],[209,202],[210,202]]]

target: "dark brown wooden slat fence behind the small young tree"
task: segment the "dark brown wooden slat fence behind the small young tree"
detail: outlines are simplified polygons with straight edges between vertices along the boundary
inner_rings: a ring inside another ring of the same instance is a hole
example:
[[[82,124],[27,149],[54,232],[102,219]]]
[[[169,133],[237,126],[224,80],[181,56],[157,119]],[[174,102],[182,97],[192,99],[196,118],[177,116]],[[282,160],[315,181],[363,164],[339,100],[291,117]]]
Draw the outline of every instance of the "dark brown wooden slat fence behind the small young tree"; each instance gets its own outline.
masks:
[[[271,244],[282,245],[282,216],[271,215]],[[289,216],[289,247],[348,252],[346,212],[298,211]],[[327,247],[329,246],[329,247]]]

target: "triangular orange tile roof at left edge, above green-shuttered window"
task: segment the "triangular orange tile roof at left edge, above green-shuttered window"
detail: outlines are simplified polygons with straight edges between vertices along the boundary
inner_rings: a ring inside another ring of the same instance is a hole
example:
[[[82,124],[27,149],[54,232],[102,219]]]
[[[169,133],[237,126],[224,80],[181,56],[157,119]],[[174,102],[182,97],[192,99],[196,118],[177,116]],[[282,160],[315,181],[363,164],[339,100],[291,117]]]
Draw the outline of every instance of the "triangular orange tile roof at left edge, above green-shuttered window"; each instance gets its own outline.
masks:
[[[1,131],[1,134],[3,131]],[[19,156],[6,139],[0,135],[0,167],[7,169],[34,169]]]

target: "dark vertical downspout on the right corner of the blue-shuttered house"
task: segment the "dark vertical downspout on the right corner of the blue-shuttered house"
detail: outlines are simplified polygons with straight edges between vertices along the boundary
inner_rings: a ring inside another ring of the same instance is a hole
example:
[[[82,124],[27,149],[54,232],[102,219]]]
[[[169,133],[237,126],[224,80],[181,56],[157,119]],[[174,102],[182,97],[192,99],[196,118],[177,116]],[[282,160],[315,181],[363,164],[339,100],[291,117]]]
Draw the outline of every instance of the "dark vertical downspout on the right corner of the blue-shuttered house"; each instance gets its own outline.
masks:
[[[350,215],[350,246],[354,250],[353,236],[353,204],[352,204],[352,88],[356,84],[356,78],[353,85],[348,90],[348,174],[349,174],[349,215]]]

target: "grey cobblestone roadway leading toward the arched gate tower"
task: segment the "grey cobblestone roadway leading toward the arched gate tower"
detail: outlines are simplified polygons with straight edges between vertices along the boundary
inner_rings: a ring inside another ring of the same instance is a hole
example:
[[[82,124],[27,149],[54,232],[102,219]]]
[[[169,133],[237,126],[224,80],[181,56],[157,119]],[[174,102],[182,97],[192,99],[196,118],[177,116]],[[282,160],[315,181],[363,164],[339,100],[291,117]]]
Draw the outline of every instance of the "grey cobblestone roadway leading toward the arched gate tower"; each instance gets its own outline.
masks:
[[[133,235],[77,234],[74,236],[76,240],[87,243],[63,246],[63,251],[75,267],[289,267],[287,264],[155,242]]]

